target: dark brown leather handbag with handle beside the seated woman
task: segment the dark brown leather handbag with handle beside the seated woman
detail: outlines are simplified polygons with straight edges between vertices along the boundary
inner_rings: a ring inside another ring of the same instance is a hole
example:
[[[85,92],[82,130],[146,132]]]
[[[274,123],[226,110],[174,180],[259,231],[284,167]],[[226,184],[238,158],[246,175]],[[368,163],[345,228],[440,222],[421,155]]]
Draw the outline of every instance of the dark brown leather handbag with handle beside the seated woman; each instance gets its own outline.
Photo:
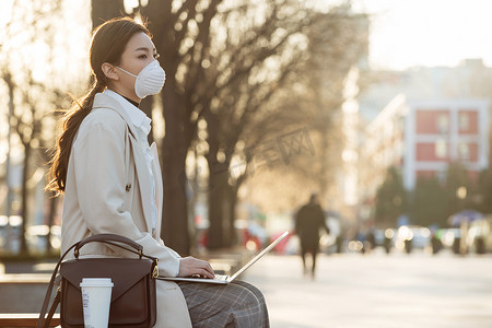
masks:
[[[137,254],[139,258],[80,259],[80,248],[92,242],[106,243],[124,248]],[[126,246],[130,246],[130,248]],[[62,261],[72,249],[74,249],[75,258]],[[61,286],[58,288],[49,314],[45,319],[58,269],[60,269]],[[140,244],[114,234],[98,234],[87,237],[72,245],[58,261],[36,327],[48,327],[58,303],[61,303],[61,327],[84,327],[80,289],[82,278],[112,279],[114,288],[109,307],[109,327],[152,327],[156,320],[155,278],[157,276],[157,259],[144,255],[143,247]]]

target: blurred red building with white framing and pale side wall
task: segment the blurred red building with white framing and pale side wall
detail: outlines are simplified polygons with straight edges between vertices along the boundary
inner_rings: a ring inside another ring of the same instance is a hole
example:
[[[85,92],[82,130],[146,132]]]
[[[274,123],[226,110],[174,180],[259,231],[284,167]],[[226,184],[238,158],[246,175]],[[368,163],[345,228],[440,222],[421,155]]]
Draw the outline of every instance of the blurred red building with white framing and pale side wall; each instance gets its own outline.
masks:
[[[477,177],[489,166],[489,102],[398,95],[367,126],[363,157],[371,163],[364,176],[372,195],[391,165],[401,168],[408,190],[420,176],[444,179],[452,162]]]

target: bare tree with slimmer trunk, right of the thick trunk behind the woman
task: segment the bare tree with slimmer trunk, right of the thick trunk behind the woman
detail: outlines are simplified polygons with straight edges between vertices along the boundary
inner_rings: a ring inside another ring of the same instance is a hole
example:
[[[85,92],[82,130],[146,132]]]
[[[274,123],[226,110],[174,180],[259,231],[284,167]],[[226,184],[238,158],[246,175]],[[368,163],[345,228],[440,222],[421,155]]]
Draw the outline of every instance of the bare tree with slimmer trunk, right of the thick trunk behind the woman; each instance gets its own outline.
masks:
[[[239,173],[237,164],[231,167],[233,157],[238,155],[236,144],[239,141],[258,144],[269,133],[288,128],[285,120],[282,125],[273,124],[279,113],[270,101],[285,86],[305,57],[303,32],[316,22],[316,14],[297,1],[238,2],[235,5],[219,15],[223,25],[215,33],[222,32],[226,38],[222,44],[215,42],[215,51],[221,49],[221,56],[210,57],[211,67],[215,69],[209,71],[216,87],[203,99],[211,107],[204,114],[211,248],[234,242],[237,191],[246,178],[246,171]],[[255,126],[258,128],[251,133]],[[247,153],[241,154],[244,167],[255,149],[249,147]],[[235,174],[231,174],[232,169]]]

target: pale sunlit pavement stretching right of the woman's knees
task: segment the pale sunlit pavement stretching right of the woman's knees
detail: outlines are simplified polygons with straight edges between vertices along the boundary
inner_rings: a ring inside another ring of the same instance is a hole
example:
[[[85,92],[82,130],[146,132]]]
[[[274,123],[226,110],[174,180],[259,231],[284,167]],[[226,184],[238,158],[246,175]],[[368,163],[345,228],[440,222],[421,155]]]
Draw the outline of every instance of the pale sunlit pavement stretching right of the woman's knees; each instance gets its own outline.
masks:
[[[269,255],[245,279],[267,298],[272,328],[492,327],[492,257],[420,254]]]

